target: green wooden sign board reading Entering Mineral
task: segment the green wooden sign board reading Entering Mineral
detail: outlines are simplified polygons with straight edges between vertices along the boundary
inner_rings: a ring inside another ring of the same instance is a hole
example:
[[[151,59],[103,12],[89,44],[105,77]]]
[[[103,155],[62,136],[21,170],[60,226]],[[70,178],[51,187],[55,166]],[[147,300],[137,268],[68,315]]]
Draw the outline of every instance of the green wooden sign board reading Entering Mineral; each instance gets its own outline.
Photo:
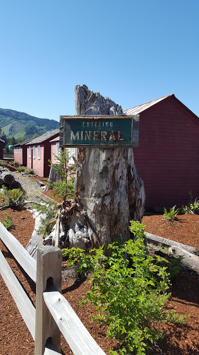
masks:
[[[77,148],[138,147],[139,114],[60,116],[59,145]]]

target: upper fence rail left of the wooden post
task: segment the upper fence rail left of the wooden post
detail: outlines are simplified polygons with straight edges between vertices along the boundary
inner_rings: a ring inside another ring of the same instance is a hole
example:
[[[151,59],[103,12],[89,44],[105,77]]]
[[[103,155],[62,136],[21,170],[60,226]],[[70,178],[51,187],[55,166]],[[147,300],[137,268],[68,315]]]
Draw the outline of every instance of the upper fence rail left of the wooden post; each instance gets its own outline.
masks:
[[[8,230],[0,223],[0,239],[6,245],[6,247],[12,252],[12,255],[21,265],[24,271],[30,276],[30,278],[36,282],[36,261],[25,248],[17,241],[15,236],[12,236]]]

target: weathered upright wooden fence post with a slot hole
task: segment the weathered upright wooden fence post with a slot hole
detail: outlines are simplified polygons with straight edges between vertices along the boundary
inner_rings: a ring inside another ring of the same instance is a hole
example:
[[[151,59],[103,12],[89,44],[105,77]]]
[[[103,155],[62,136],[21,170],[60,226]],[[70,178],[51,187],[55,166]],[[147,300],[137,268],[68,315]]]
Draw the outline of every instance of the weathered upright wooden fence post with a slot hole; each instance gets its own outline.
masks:
[[[49,342],[49,338],[59,351],[61,349],[59,328],[50,315],[43,297],[47,283],[53,284],[61,293],[61,259],[59,248],[42,246],[37,251],[35,355],[44,355],[46,341]]]

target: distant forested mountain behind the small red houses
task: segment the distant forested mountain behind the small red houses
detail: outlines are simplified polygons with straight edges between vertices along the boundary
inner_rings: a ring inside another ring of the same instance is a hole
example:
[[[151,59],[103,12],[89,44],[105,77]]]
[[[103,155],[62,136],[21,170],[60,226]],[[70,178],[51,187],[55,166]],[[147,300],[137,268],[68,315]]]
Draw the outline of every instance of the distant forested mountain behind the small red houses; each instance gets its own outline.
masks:
[[[0,126],[7,137],[28,139],[35,133],[43,135],[49,130],[56,130],[59,128],[59,122],[54,119],[38,119],[30,114],[0,108]]]

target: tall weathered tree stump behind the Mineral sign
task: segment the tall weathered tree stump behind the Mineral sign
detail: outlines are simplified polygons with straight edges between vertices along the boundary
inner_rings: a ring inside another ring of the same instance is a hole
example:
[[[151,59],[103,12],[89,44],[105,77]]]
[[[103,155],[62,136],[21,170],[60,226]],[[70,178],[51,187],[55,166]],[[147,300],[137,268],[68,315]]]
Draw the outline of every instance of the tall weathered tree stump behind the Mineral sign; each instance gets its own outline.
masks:
[[[89,91],[86,85],[75,87],[76,115],[122,113],[122,107],[110,98]],[[117,237],[122,241],[131,238],[130,220],[141,222],[145,202],[144,184],[135,168],[133,148],[78,149],[75,193],[80,196],[88,216],[84,236],[91,243],[85,244],[85,248],[100,244],[106,249]],[[81,239],[81,227],[77,226],[78,222],[73,221],[70,246]]]

